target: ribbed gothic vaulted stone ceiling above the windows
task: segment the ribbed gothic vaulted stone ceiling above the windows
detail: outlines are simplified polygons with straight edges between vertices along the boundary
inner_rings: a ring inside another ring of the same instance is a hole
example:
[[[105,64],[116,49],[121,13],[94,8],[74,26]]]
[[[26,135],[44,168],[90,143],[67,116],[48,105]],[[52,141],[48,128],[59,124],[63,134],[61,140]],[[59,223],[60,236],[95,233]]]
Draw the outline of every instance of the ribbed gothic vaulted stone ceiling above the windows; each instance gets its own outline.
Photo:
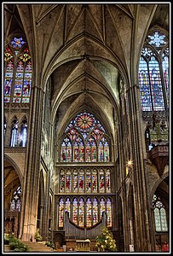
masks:
[[[169,30],[169,4],[4,5],[4,40],[26,35],[34,83],[45,90],[51,78],[52,118],[59,110],[62,123],[63,113],[87,106],[113,129],[120,76],[127,86],[137,83],[141,47],[155,25]]]

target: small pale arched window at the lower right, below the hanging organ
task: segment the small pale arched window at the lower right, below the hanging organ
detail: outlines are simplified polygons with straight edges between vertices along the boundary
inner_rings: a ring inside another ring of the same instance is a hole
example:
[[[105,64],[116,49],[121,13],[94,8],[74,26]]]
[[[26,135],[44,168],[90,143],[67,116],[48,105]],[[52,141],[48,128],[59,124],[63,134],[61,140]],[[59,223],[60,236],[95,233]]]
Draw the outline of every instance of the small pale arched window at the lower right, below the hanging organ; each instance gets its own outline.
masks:
[[[153,195],[153,212],[154,212],[154,221],[155,221],[155,230],[156,232],[166,232],[168,231],[166,211],[164,204],[160,201],[159,197]]]

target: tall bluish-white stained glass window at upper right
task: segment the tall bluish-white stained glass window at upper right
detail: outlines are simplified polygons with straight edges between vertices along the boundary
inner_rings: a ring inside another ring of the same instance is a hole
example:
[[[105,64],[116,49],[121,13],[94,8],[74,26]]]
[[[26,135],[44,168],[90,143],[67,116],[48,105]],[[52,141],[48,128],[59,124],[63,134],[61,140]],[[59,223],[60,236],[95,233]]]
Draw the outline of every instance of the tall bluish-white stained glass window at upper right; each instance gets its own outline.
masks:
[[[141,50],[138,79],[141,110],[160,111],[169,105],[168,37],[161,32],[148,34]]]

